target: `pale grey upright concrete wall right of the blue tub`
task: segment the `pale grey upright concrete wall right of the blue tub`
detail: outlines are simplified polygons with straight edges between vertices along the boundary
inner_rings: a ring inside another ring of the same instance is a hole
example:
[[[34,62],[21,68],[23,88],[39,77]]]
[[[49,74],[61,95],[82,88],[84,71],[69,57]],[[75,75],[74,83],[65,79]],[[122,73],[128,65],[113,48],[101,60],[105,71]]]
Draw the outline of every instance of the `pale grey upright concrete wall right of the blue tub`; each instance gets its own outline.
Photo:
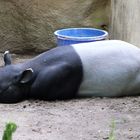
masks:
[[[140,47],[140,0],[111,0],[110,38]]]

